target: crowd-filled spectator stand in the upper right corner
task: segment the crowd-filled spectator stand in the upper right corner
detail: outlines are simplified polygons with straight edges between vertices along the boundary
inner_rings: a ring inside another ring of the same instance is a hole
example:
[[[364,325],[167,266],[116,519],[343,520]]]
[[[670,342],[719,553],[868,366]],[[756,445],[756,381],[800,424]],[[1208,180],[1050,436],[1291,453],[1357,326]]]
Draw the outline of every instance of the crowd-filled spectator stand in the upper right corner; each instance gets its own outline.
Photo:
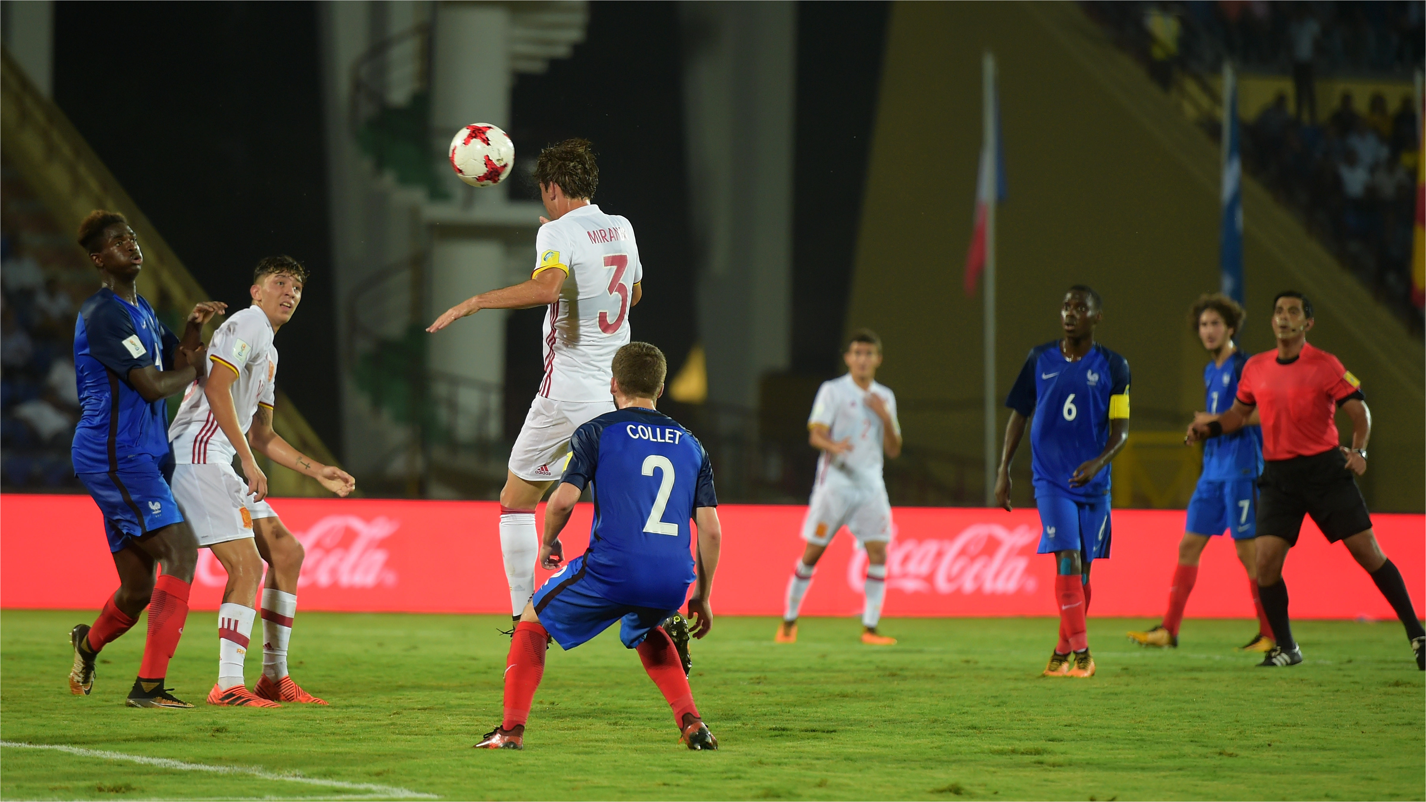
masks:
[[[1215,137],[1224,60],[1239,67],[1241,86],[1261,84],[1256,101],[1241,91],[1245,170],[1379,303],[1422,331],[1409,274],[1419,153],[1412,70],[1426,47],[1420,3],[1084,9],[1161,88],[1206,96],[1214,108],[1199,121]]]

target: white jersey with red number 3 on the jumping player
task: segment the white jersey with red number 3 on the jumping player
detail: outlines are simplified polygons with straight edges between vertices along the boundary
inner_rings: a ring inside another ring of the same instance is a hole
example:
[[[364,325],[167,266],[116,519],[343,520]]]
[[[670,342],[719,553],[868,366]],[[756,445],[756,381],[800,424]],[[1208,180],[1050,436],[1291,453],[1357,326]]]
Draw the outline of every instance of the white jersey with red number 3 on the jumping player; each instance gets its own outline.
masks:
[[[629,220],[582,205],[540,225],[533,275],[562,270],[565,285],[545,315],[545,378],[553,401],[607,401],[615,351],[629,342],[629,305],[643,280]]]

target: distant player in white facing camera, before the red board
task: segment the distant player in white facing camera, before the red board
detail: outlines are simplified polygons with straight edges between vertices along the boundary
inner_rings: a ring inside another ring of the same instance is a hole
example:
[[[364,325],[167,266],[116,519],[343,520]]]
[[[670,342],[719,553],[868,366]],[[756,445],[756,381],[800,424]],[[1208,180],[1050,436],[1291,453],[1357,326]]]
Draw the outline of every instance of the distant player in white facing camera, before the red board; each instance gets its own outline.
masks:
[[[896,638],[877,632],[887,592],[887,542],[891,539],[891,502],[881,467],[883,455],[896,460],[901,454],[901,424],[896,417],[896,394],[876,382],[877,368],[881,367],[881,338],[868,328],[854,331],[841,360],[847,362],[847,372],[817,388],[811,417],[807,418],[811,432],[807,440],[821,455],[803,518],[801,538],[807,541],[807,548],[787,579],[787,606],[773,641],[797,642],[797,614],[817,561],[846,525],[857,538],[857,545],[867,549],[861,642],[890,646]]]

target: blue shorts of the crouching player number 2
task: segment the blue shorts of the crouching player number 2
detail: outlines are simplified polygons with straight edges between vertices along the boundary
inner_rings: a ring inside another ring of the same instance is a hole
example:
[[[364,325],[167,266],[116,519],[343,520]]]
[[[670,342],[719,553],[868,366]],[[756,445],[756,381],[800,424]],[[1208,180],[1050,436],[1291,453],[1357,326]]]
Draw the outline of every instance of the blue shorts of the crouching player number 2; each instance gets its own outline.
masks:
[[[535,591],[535,614],[563,649],[573,649],[619,619],[623,619],[619,639],[632,649],[665,618],[679,612],[612,602],[590,591],[583,578],[585,555],[579,555]]]

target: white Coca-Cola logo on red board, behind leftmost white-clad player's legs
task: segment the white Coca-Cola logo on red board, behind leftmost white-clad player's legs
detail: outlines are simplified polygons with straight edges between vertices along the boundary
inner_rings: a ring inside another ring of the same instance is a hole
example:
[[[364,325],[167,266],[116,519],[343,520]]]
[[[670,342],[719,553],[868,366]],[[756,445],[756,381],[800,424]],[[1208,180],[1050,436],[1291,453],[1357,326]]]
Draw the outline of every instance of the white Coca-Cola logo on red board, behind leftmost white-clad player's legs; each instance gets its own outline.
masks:
[[[394,588],[398,575],[386,568],[391,552],[381,548],[381,541],[401,528],[401,521],[376,517],[371,521],[359,515],[328,515],[312,524],[305,532],[292,537],[307,549],[302,561],[302,575],[298,588]],[[211,549],[198,549],[198,567],[194,578],[208,587],[221,588],[228,582],[222,564],[212,557]]]

